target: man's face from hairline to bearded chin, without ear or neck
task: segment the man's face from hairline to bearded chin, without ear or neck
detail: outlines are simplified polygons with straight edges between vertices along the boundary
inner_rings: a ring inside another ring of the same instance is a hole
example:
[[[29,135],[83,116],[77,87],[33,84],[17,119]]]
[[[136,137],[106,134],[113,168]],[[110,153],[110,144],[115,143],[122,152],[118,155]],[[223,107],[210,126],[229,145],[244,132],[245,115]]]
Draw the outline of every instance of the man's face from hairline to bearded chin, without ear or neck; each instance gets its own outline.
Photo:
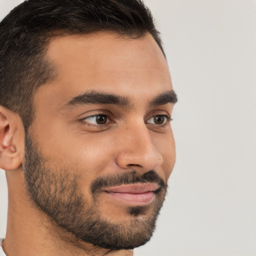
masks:
[[[150,34],[53,39],[58,75],[34,95],[29,196],[62,232],[120,249],[151,236],[175,161],[166,61]]]

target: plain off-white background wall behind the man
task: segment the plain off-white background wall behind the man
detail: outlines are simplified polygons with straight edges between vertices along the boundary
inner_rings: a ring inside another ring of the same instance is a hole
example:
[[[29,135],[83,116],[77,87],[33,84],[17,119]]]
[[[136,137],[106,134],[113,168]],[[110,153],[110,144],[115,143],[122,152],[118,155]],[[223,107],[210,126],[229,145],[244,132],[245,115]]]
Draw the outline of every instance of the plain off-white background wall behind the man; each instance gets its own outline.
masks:
[[[19,2],[0,0],[0,18]],[[135,255],[255,256],[256,2],[145,3],[178,95],[177,158],[157,229]],[[6,197],[0,173],[0,236]]]

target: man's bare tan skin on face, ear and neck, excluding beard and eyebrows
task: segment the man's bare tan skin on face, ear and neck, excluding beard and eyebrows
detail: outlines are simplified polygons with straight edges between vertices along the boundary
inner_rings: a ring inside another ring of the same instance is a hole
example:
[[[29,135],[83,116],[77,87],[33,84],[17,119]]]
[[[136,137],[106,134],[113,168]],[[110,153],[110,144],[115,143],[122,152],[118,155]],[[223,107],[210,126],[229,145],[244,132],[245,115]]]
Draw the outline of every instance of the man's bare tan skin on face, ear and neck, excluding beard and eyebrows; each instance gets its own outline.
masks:
[[[175,162],[173,134],[168,121],[158,125],[152,117],[171,116],[173,104],[150,106],[149,102],[172,85],[166,60],[153,37],[145,34],[128,39],[110,32],[60,36],[50,42],[47,58],[55,65],[57,76],[35,92],[36,114],[28,132],[56,175],[65,170],[65,175],[79,177],[84,207],[93,205],[89,187],[99,176],[131,170],[142,175],[153,169],[167,182]],[[72,97],[91,90],[125,96],[131,106],[66,106]],[[109,114],[109,121],[95,125],[95,118],[88,117],[102,110]],[[6,170],[8,184],[7,231],[2,244],[6,254],[132,255],[132,250],[110,251],[81,242],[34,206],[20,167],[24,138],[19,115],[0,106],[0,167]],[[128,228],[134,216],[125,203],[104,193],[97,200],[102,217]],[[153,214],[155,200],[144,214],[136,216],[138,221]]]

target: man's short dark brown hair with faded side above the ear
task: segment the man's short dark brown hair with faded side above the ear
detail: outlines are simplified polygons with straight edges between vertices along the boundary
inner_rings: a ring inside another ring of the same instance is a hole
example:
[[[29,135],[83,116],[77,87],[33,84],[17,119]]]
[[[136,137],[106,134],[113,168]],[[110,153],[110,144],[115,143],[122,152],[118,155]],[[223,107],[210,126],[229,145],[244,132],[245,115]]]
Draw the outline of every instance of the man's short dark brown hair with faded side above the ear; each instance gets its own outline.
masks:
[[[34,91],[54,77],[45,59],[49,39],[56,31],[100,30],[130,38],[149,32],[163,52],[152,14],[141,0],[27,0],[0,22],[0,104],[20,115],[25,131],[33,120]]]

